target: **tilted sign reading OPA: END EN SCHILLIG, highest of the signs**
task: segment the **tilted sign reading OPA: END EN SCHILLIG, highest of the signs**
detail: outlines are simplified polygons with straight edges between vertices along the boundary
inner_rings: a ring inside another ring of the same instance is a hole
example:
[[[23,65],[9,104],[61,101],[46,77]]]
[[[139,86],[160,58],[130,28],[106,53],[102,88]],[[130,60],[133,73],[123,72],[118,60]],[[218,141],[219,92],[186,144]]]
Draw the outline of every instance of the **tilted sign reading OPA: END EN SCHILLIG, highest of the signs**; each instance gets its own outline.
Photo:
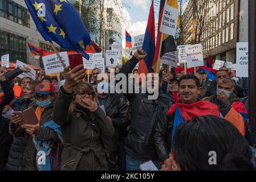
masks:
[[[165,1],[164,11],[162,13],[162,20],[160,32],[175,36],[178,22],[178,9],[169,6]]]

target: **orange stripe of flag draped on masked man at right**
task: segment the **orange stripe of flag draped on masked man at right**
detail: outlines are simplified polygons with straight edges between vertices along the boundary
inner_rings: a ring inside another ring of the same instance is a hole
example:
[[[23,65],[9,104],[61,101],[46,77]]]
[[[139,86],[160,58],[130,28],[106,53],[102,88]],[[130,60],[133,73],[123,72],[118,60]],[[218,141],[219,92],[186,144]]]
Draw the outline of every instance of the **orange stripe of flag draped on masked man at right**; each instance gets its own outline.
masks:
[[[245,123],[243,122],[243,117],[233,107],[231,107],[225,119],[237,127],[240,133],[245,136]]]

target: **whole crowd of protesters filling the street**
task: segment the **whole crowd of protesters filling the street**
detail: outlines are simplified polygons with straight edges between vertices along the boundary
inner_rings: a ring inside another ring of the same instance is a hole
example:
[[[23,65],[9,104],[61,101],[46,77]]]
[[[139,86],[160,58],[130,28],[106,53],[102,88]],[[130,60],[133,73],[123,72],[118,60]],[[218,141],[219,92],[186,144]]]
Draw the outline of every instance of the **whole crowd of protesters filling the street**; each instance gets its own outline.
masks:
[[[137,50],[115,74],[128,79],[138,73],[135,66],[145,56]],[[245,138],[249,83],[226,67],[216,80],[206,72],[161,68],[156,100],[148,92],[109,93],[110,83],[97,79],[98,68],[90,76],[79,65],[67,67],[60,79],[43,69],[36,80],[18,77],[29,71],[0,68],[0,170],[130,171],[149,160],[169,171],[255,169],[255,150]],[[39,123],[19,125],[15,111],[30,107]],[[185,120],[180,125],[177,107]],[[45,163],[39,162],[42,151]],[[214,165],[210,151],[217,154]]]

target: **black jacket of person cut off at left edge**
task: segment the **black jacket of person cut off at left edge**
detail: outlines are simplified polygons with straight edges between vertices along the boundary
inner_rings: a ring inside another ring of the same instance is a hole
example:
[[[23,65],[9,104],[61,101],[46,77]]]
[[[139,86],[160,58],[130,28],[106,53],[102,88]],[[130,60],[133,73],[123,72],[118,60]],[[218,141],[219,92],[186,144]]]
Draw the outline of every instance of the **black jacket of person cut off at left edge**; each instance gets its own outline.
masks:
[[[2,85],[2,90],[3,93],[5,94],[1,100],[1,104],[0,104],[0,145],[5,144],[5,143],[9,143],[12,140],[12,137],[9,134],[9,123],[10,120],[3,118],[2,117],[2,111],[3,108],[10,104],[10,102],[13,100],[14,98],[14,92],[13,92],[13,88],[11,87],[11,82],[10,81],[0,81],[0,84]]]

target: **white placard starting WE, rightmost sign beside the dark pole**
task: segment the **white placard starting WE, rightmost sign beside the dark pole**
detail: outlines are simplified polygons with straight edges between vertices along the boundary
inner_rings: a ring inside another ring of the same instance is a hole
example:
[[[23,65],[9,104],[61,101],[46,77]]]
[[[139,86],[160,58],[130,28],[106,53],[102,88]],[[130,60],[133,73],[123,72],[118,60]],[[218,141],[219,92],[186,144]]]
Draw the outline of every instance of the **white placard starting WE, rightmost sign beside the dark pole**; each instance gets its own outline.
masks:
[[[247,42],[237,43],[237,77],[248,77],[248,55]]]

